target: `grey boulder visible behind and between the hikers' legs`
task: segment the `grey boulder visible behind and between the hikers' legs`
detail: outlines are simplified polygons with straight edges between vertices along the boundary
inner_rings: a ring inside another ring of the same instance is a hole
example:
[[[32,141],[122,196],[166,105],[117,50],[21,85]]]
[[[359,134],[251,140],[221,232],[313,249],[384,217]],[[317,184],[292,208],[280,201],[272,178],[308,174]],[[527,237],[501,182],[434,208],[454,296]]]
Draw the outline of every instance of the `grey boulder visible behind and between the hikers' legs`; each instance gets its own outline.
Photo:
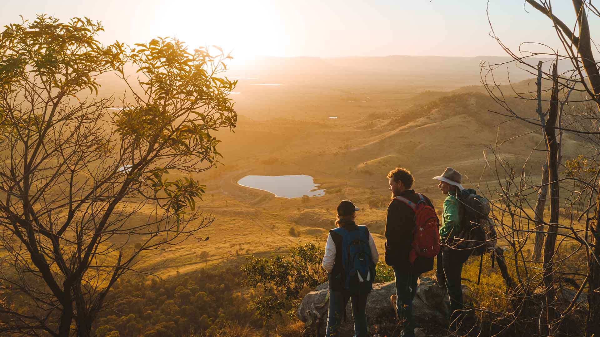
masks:
[[[396,293],[395,282],[373,284],[373,290],[367,299],[367,320],[370,335],[376,334],[384,326],[395,326],[395,314],[389,297]],[[463,292],[466,288],[463,285]],[[328,284],[325,282],[308,293],[298,308],[298,318],[317,336],[325,335],[329,306]],[[421,277],[418,281],[417,293],[413,300],[413,316],[416,326],[446,324],[449,303],[446,290],[429,277]],[[343,323],[342,336],[352,336],[352,306],[346,306],[347,320]]]

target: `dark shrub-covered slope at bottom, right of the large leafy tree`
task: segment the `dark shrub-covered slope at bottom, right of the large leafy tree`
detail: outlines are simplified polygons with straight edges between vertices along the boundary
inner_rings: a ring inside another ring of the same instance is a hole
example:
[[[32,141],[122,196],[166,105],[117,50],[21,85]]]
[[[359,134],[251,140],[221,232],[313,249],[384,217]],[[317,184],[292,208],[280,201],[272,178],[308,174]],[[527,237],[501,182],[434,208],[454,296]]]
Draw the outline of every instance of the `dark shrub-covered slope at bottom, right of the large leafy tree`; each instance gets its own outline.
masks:
[[[239,264],[232,261],[169,279],[124,278],[107,297],[108,305],[94,322],[92,335],[212,336],[206,331],[218,335],[232,322],[244,322],[248,331],[261,329],[263,321],[248,308],[253,294],[242,288],[242,276]]]

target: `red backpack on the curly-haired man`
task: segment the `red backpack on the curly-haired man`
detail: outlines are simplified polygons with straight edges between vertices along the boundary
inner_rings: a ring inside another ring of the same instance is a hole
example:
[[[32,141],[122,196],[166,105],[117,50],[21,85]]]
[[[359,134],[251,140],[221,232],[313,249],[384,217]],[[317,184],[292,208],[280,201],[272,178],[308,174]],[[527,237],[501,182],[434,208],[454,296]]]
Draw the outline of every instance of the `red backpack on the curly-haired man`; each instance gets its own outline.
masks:
[[[433,258],[440,252],[440,220],[436,211],[427,204],[421,193],[417,193],[421,200],[413,203],[407,198],[398,195],[396,199],[407,204],[415,212],[415,229],[413,230],[413,242],[409,260],[410,264],[415,262],[419,256]]]

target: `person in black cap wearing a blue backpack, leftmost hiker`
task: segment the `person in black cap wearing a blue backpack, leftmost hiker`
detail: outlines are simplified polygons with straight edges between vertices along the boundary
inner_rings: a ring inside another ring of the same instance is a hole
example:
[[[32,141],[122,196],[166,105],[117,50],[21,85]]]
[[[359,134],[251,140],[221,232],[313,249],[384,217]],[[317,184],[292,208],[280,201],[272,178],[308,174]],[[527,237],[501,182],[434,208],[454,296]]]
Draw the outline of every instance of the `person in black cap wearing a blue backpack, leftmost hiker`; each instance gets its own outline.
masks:
[[[329,281],[329,314],[326,336],[338,336],[346,314],[348,300],[352,301],[354,336],[367,336],[367,296],[373,288],[375,264],[379,253],[366,226],[356,225],[356,211],[350,200],[337,207],[334,228],[329,231],[323,256],[323,269]]]

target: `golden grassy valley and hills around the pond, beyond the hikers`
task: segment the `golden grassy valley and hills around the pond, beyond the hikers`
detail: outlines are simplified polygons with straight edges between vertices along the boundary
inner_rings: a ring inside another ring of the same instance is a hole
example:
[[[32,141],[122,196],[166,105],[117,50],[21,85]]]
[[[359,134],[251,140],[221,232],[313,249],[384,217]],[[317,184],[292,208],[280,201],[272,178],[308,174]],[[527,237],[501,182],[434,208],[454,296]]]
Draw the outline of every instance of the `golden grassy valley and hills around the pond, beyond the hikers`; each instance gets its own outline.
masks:
[[[521,134],[524,136],[502,143],[498,149],[502,159],[515,163],[517,169],[531,154],[527,169],[532,171],[533,181],[539,182],[545,154],[532,154],[532,148],[539,145],[541,133],[488,112],[499,108],[481,85],[459,87],[452,79],[419,79],[389,88],[385,83],[315,85],[307,80],[285,80],[239,80],[236,92],[240,94],[232,96],[239,113],[238,126],[235,133],[217,133],[223,141],[218,151],[224,156],[224,165],[199,176],[207,188],[198,206],[205,214],[216,216],[201,234],[209,240],[190,240],[143,255],[139,268],[152,268],[167,276],[231,257],[286,252],[297,243],[324,245],[335,207],[344,198],[361,207],[357,222],[370,227],[383,251],[386,203],[371,209],[368,200],[389,199],[389,170],[396,166],[411,170],[416,191],[441,207],[443,195],[433,176],[451,166],[463,173],[467,188],[480,184],[484,191],[493,189],[495,176],[489,168],[484,171],[484,150]],[[526,80],[517,86],[527,91],[532,83]],[[532,101],[513,102],[525,115],[535,113]],[[565,137],[563,157],[572,158],[583,143]],[[489,149],[487,158],[493,168]],[[237,185],[248,174],[308,174],[326,193],[305,202],[276,198]],[[299,236],[290,235],[290,227]],[[209,252],[207,261],[200,258],[203,251]]]

